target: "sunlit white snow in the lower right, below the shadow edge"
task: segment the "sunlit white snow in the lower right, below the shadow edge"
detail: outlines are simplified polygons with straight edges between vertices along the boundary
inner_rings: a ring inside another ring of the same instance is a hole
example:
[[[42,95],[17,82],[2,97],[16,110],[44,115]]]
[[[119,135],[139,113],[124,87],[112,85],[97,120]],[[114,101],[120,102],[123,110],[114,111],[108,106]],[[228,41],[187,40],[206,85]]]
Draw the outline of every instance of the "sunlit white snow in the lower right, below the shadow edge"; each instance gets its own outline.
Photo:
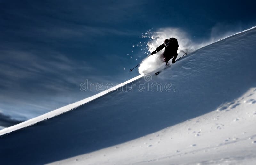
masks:
[[[255,98],[256,88],[252,88],[218,111],[58,163],[255,164]]]

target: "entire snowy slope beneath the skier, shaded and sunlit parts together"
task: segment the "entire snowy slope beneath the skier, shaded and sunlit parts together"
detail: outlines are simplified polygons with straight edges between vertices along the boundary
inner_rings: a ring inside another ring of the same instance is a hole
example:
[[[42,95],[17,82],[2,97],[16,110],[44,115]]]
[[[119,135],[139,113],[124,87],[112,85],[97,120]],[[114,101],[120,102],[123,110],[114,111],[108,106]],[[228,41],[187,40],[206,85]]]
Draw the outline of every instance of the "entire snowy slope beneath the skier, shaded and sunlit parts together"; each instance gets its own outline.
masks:
[[[255,40],[253,28],[158,76],[1,130],[1,164],[253,164]]]

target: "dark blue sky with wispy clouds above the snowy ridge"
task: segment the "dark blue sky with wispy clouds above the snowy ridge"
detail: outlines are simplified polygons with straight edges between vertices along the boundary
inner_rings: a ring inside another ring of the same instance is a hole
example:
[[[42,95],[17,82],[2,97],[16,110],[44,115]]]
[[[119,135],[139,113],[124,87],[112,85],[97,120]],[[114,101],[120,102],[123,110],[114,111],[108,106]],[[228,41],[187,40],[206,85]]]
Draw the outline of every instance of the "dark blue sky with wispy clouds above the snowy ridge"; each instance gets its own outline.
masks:
[[[116,84],[139,75],[129,70],[161,29],[178,28],[203,43],[251,28],[254,6],[246,0],[0,0],[0,115],[33,118],[99,92],[82,91],[81,83]]]

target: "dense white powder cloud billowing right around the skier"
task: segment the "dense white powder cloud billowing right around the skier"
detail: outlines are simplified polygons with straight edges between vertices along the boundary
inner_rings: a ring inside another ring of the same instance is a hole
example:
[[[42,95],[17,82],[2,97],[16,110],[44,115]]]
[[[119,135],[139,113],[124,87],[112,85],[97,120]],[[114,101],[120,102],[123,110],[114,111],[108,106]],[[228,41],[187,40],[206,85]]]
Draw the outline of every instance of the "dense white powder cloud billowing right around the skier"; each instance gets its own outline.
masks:
[[[169,39],[171,37],[175,37],[179,42],[178,58],[179,56],[182,56],[185,52],[193,52],[197,48],[199,48],[198,46],[192,44],[191,40],[188,37],[188,34],[181,29],[162,28],[159,29],[157,32],[153,33],[153,35],[151,36],[152,40],[148,42],[149,52],[153,52],[154,50],[156,50],[156,48],[161,45],[165,39]],[[165,64],[163,63],[163,59],[160,58],[160,55],[163,51],[164,49],[144,59],[139,66],[139,73],[148,74],[164,68]]]

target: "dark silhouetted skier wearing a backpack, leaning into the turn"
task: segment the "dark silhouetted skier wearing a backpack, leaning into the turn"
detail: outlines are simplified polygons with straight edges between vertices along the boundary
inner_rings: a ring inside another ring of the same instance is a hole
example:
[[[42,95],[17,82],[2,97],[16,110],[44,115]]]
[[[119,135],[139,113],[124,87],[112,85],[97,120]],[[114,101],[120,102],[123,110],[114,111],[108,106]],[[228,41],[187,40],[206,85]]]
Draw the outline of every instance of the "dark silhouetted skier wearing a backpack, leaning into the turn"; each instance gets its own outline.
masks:
[[[176,38],[172,37],[169,39],[165,39],[164,43],[156,48],[154,52],[152,52],[150,55],[156,54],[156,52],[159,52],[165,47],[164,52],[161,54],[161,57],[164,58],[163,62],[166,62],[166,65],[168,61],[172,58],[172,63],[175,63],[175,60],[178,56],[177,50],[179,47],[178,41]]]

